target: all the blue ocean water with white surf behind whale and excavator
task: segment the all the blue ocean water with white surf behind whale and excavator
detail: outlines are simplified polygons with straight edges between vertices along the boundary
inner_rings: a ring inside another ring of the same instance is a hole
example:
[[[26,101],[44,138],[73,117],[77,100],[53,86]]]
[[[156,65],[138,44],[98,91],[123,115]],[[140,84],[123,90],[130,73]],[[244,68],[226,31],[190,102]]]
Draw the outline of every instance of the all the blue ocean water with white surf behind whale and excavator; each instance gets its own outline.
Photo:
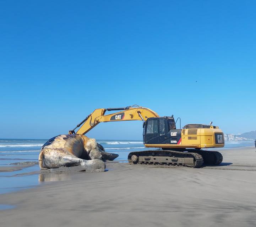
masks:
[[[53,174],[50,178],[42,177],[39,173],[39,165],[22,169],[22,165],[14,163],[38,161],[41,146],[47,140],[34,139],[0,139],[0,167],[21,167],[20,170],[4,172],[0,168],[0,194],[30,188],[42,183],[42,181],[58,181],[69,179],[63,174]],[[119,154],[115,160],[127,161],[127,156],[132,151],[145,149],[142,140],[97,140],[102,144],[106,152]],[[254,141],[226,142],[225,148],[254,146]]]

